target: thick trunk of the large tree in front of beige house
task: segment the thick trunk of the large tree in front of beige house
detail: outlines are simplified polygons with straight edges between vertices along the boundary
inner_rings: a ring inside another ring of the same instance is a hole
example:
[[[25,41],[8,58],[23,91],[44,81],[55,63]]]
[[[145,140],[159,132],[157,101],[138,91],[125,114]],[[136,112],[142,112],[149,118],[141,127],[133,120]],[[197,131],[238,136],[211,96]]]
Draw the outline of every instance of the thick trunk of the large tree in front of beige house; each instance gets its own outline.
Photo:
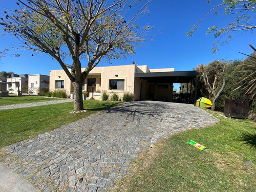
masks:
[[[83,100],[82,100],[82,81],[72,82],[74,87],[74,110],[83,110]]]

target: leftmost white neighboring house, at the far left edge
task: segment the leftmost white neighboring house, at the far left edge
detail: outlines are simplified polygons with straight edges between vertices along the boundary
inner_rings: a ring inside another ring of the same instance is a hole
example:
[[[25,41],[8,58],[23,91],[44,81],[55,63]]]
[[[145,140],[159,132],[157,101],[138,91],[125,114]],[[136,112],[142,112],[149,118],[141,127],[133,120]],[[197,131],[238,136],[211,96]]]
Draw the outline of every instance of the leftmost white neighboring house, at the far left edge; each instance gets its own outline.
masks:
[[[27,87],[28,87],[28,75],[23,74],[23,75],[17,75],[13,74],[13,77],[7,77],[6,78],[6,83],[7,83],[7,91],[10,93],[18,93],[18,90],[21,91],[22,93],[27,92]]]

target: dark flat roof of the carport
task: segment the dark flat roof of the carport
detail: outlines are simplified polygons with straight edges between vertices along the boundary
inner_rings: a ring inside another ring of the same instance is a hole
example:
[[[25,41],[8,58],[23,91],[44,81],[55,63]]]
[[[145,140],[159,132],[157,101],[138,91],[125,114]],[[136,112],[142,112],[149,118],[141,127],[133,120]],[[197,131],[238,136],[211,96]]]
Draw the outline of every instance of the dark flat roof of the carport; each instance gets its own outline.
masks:
[[[135,77],[148,80],[148,82],[158,83],[188,83],[195,79],[197,71],[170,71],[170,72],[151,72],[135,73]]]

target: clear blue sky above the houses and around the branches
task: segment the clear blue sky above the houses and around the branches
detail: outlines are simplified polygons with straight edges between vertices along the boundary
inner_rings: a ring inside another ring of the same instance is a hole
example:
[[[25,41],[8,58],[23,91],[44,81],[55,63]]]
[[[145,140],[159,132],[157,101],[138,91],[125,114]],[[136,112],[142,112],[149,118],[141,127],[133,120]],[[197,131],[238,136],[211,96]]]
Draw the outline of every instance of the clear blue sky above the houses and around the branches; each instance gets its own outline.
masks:
[[[100,62],[99,67],[111,65],[130,65],[136,61],[138,65],[147,65],[150,69],[175,68],[175,71],[193,70],[199,64],[207,64],[215,59],[243,59],[239,52],[250,54],[248,44],[255,45],[255,34],[245,32],[233,41],[220,47],[217,54],[212,54],[211,48],[216,41],[214,35],[206,35],[209,26],[226,26],[232,22],[230,16],[208,15],[201,23],[193,37],[186,37],[190,26],[200,20],[205,13],[221,0],[153,0],[148,6],[149,14],[139,19],[139,25],[155,26],[150,33],[153,40],[145,42],[143,47],[136,48],[136,54],[122,60],[112,60],[112,64]],[[0,13],[4,7],[15,9],[16,1],[1,0]],[[50,70],[61,69],[60,65],[44,53],[35,54],[32,51],[14,51],[12,45],[18,42],[9,35],[2,36],[0,31],[0,50],[8,48],[9,54],[19,53],[20,57],[7,56],[1,59],[0,71],[13,71],[16,74],[44,74]],[[31,55],[34,54],[32,57]],[[86,66],[86,61],[82,62]]]

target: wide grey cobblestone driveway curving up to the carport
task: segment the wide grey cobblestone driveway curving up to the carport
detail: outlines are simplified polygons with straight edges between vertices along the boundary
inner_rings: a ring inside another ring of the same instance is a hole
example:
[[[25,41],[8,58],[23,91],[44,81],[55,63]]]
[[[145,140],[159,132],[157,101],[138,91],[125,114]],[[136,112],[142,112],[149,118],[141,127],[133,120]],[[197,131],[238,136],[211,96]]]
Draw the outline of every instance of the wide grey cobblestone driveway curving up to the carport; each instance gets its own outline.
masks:
[[[123,103],[5,147],[5,160],[41,191],[107,191],[139,151],[160,138],[218,122],[190,104]]]

